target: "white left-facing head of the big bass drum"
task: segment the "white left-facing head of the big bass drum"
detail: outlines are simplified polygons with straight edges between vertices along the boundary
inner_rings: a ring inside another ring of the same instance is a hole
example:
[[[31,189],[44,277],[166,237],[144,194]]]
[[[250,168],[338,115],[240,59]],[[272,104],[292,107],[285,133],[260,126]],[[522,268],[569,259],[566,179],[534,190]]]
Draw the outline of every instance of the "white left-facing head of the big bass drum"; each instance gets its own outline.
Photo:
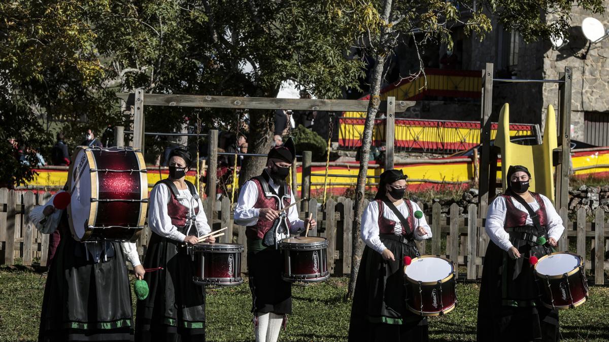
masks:
[[[77,241],[84,241],[87,226],[94,225],[97,203],[91,202],[91,197],[97,198],[95,159],[90,150],[79,146],[72,155],[72,163],[68,173],[71,201],[68,205],[68,222],[72,237]]]

